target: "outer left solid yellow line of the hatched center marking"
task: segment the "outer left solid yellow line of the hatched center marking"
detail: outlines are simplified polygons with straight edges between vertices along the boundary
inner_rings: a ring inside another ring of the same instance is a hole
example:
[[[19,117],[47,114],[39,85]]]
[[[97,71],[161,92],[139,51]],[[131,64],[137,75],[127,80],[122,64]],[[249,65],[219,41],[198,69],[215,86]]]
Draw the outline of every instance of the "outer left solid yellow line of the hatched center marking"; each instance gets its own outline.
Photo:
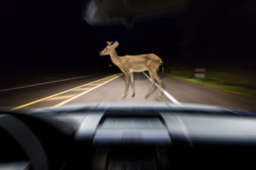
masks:
[[[113,77],[113,76],[116,76],[116,75],[120,75],[120,76],[121,76],[122,74],[120,74],[120,73],[119,73],[119,74],[114,74],[114,75],[109,76],[109,77]],[[94,81],[94,82],[103,81],[103,80],[106,80],[106,79],[109,78],[109,77],[104,77],[104,78],[99,79],[99,80],[96,80],[96,81]],[[74,89],[83,88],[84,86],[90,85],[90,84],[92,84],[92,83],[94,83],[94,82],[89,82],[89,83],[86,83],[86,84],[81,85],[81,86],[79,86],[79,87],[71,88],[71,89],[65,90],[65,91],[63,91],[63,92],[61,92],[61,93],[58,93],[58,94],[53,94],[53,95],[50,95],[50,96],[45,97],[45,98],[42,98],[42,99],[37,99],[37,100],[32,101],[32,102],[30,102],[30,103],[27,103],[27,104],[25,104],[25,105],[17,106],[17,107],[15,107],[15,108],[13,108],[13,109],[11,109],[11,110],[9,110],[9,111],[15,111],[15,110],[21,109],[21,108],[23,108],[23,107],[36,104],[36,103],[38,103],[38,102],[40,102],[40,101],[43,101],[43,100],[45,100],[45,99],[53,98],[53,97],[55,97],[55,96],[57,96],[57,95],[60,95],[60,94],[65,94],[65,93],[70,92],[70,91],[72,91],[72,90],[74,90]]]

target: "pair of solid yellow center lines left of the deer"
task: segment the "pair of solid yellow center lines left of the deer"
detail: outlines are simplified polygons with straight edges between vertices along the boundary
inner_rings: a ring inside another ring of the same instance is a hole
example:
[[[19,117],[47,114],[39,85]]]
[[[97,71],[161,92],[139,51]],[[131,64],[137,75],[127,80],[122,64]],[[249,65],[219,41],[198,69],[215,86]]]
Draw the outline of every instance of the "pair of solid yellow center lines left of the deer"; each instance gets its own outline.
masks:
[[[37,99],[37,100],[32,101],[32,102],[30,102],[30,103],[27,103],[27,104],[25,104],[25,105],[17,106],[17,107],[15,107],[15,108],[11,109],[10,111],[15,111],[15,110],[24,108],[24,107],[26,107],[26,106],[33,105],[33,104],[36,104],[36,103],[38,103],[38,102],[44,101],[44,100],[46,100],[46,99],[50,99],[50,98],[53,98],[53,97],[55,97],[55,96],[58,96],[58,95],[61,95],[61,94],[65,94],[65,93],[67,93],[67,92],[71,92],[71,91],[73,91],[73,90],[75,90],[75,89],[84,88],[85,86],[93,85],[93,84],[96,83],[96,85],[93,86],[92,88],[88,88],[88,89],[85,90],[83,93],[77,94],[77,95],[73,96],[73,97],[70,98],[70,99],[64,100],[64,101],[62,101],[61,103],[59,103],[59,104],[57,104],[57,105],[54,105],[53,107],[58,107],[58,106],[61,106],[61,105],[65,105],[65,104],[67,104],[69,101],[71,101],[71,100],[73,100],[73,99],[77,99],[77,98],[79,98],[80,96],[89,93],[91,90],[94,90],[95,88],[99,88],[99,87],[101,87],[103,84],[106,84],[107,82],[110,82],[110,81],[112,81],[113,79],[116,79],[116,78],[118,78],[118,77],[120,77],[120,76],[122,76],[122,75],[123,75],[123,73],[119,73],[119,74],[114,74],[114,75],[109,76],[109,77],[104,77],[104,78],[99,79],[99,80],[96,80],[96,81],[94,81],[94,82],[89,82],[89,83],[86,83],[86,84],[84,84],[84,85],[78,86],[78,87],[76,87],[76,88],[71,88],[71,89],[65,90],[65,91],[63,91],[63,92],[61,92],[61,93],[53,94],[53,95],[50,95],[50,96],[45,97],[45,98],[42,98],[42,99]]]

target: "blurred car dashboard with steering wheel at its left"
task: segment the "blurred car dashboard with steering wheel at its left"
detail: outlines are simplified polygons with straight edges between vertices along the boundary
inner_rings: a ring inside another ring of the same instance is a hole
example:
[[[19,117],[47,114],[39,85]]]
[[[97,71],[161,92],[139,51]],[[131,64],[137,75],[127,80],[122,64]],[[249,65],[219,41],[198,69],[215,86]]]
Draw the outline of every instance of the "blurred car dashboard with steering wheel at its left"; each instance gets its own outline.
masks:
[[[253,112],[206,105],[100,103],[0,114],[0,169],[246,168]]]

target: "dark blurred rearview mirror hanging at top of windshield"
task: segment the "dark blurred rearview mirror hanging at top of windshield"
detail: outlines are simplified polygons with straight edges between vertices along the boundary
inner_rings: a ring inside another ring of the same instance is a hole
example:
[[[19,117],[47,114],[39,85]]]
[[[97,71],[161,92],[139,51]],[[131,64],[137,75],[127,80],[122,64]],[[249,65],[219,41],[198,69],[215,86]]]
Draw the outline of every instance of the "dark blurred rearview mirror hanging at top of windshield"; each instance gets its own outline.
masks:
[[[172,16],[189,6],[190,0],[90,0],[83,18],[93,26],[125,24]]]

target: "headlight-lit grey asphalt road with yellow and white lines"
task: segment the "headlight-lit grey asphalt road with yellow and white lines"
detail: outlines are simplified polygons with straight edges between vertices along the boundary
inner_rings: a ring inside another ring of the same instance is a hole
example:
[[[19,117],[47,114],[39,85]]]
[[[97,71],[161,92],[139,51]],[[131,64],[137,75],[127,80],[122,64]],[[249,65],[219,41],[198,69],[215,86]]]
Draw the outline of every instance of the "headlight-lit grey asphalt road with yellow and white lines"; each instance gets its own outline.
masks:
[[[161,75],[165,94],[157,99],[157,88],[144,98],[150,87],[150,80],[143,73],[135,73],[136,96],[128,95],[122,99],[125,89],[124,75],[100,74],[90,77],[56,81],[52,83],[29,85],[25,88],[0,89],[0,107],[3,110],[17,111],[26,108],[58,107],[61,105],[83,104],[88,102],[171,102],[218,105],[227,108],[256,111],[256,100],[239,94],[231,94],[177,78]]]

